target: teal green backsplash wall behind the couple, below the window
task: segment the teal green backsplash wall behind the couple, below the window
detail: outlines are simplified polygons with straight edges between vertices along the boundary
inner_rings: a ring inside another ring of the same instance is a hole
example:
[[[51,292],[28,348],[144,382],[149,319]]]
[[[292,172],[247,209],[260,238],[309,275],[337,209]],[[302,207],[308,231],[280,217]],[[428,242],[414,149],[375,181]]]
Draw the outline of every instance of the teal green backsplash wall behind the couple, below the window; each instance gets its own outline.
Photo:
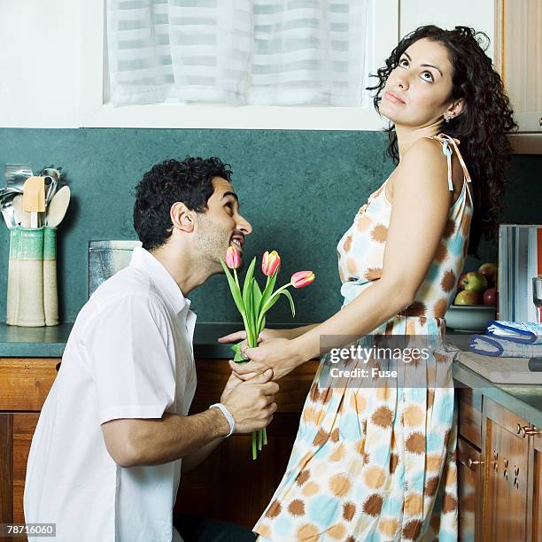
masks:
[[[231,164],[242,213],[252,222],[246,255],[267,249],[290,272],[312,268],[316,282],[295,292],[299,322],[321,321],[341,306],[336,246],[368,195],[391,173],[376,132],[210,129],[0,129],[0,164],[35,171],[63,166],[72,204],[58,231],[60,318],[74,321],[88,292],[89,240],[136,239],[134,186],[152,164],[187,155]],[[542,222],[542,156],[515,156],[503,221]],[[4,184],[4,180],[0,182]],[[484,261],[496,245],[484,243]],[[5,321],[8,235],[0,227],[0,321]],[[467,267],[479,262],[468,259]],[[239,321],[223,276],[190,294],[198,321]],[[268,321],[290,321],[286,303]]]

